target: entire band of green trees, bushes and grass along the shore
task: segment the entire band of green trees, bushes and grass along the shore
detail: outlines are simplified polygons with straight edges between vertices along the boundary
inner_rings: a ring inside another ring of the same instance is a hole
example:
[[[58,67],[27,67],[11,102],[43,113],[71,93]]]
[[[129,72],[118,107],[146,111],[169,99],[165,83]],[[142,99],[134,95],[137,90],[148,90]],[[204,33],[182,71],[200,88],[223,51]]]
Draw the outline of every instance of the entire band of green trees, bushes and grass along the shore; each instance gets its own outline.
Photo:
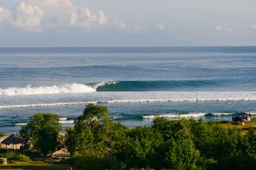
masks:
[[[255,125],[156,117],[128,128],[88,104],[64,134],[57,114],[34,114],[21,149],[0,149],[9,161],[0,169],[255,169]],[[69,156],[53,154],[60,149]]]

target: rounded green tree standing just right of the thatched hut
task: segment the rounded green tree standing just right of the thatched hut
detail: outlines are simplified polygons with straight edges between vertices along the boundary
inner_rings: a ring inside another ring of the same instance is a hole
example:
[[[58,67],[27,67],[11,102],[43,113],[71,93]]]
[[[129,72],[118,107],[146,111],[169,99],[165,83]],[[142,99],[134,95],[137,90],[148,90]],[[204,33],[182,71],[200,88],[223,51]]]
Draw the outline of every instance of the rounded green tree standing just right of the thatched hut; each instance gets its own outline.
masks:
[[[20,133],[41,155],[47,156],[58,149],[60,130],[58,114],[39,113],[34,114],[26,126],[21,126]]]

